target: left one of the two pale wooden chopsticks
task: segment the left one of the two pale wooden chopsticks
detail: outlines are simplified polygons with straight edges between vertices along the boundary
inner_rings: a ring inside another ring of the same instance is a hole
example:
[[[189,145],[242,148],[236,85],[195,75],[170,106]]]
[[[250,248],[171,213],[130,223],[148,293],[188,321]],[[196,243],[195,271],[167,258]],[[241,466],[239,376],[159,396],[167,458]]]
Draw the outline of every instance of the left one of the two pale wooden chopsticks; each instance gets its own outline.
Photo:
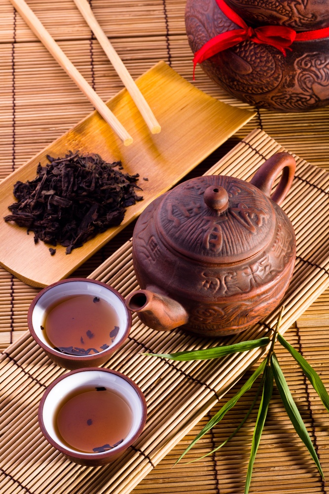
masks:
[[[56,41],[50,36],[43,24],[39,21],[35,13],[31,10],[25,0],[10,0],[17,12],[21,15],[27,25],[31,28],[37,38],[47,48],[49,53],[55,58],[60,66],[66,71],[76,85],[81,89],[85,96],[92,103],[94,108],[102,115],[104,120],[110,124],[114,132],[123,141],[125,146],[129,146],[133,142],[133,138],[127,132],[122,124],[113,115],[104,101],[84,79],[80,72],[75,68],[73,63],[66,56],[64,51],[59,47]]]

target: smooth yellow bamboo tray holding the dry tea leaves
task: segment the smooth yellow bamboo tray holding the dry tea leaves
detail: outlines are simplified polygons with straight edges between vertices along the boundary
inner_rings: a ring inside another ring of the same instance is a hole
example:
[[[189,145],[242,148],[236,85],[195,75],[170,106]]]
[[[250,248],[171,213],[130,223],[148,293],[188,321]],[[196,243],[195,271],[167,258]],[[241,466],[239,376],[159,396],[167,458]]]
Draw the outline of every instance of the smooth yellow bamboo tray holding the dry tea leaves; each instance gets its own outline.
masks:
[[[67,277],[135,219],[153,199],[175,185],[255,115],[208,96],[164,62],[156,64],[137,83],[162,126],[159,134],[149,132],[124,89],[108,102],[108,106],[132,135],[132,145],[124,146],[110,126],[93,112],[0,184],[0,217],[3,217],[9,213],[7,207],[15,202],[12,191],[16,181],[34,179],[37,164],[47,163],[46,155],[62,157],[69,150],[81,154],[97,153],[109,162],[121,160],[124,172],[140,174],[138,185],[143,188],[144,200],[127,209],[120,226],[97,235],[69,255],[65,254],[65,247],[57,246],[56,254],[51,256],[50,246],[43,242],[35,245],[33,235],[28,236],[25,228],[1,221],[0,265],[25,283],[44,287]],[[148,181],[144,181],[144,177]]]

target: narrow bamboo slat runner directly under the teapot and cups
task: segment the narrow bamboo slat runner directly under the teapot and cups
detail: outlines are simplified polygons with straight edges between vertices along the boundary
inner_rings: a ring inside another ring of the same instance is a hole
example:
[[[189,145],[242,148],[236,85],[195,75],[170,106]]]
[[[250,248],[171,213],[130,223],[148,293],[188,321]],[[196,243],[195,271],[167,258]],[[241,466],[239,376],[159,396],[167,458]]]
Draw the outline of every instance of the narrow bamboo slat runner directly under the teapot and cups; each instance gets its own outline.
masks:
[[[207,174],[229,174],[250,180],[265,159],[283,151],[256,129]],[[292,189],[283,205],[292,220],[297,258],[292,283],[284,297],[282,332],[329,286],[329,173],[296,157]],[[90,276],[118,289],[123,296],[136,289],[131,241],[119,248]],[[274,328],[278,310],[253,328],[222,340],[233,343],[257,338]],[[81,467],[56,452],[41,435],[37,407],[44,389],[65,370],[52,364],[26,333],[1,358],[2,479],[0,492],[18,494],[129,493],[225,392],[262,355],[255,349],[216,361],[170,362],[141,355],[168,353],[214,345],[215,340],[179,330],[158,333],[137,319],[124,346],[105,367],[126,373],[146,396],[148,418],[139,440],[110,467]]]

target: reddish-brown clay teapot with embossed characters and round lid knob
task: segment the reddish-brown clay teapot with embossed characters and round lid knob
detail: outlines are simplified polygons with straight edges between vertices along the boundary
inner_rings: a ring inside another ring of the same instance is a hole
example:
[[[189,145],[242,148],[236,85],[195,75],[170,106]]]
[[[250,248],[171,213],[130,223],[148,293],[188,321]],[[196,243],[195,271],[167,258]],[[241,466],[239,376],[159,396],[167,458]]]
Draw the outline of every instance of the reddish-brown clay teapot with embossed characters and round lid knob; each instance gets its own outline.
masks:
[[[294,267],[294,232],[279,206],[294,171],[294,158],[277,153],[250,182],[204,175],[153,201],[133,233],[141,289],[127,308],[150,328],[208,336],[243,331],[269,314]]]

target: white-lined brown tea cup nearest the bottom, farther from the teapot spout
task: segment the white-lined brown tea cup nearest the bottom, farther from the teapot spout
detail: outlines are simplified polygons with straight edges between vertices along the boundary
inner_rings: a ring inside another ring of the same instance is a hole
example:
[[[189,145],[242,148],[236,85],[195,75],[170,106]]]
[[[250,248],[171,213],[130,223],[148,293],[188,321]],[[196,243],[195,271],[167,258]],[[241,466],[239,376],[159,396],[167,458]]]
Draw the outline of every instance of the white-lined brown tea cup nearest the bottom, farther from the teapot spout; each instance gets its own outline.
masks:
[[[46,440],[70,460],[86,466],[105,465],[142,433],[146,401],[137,384],[120,372],[78,369],[58,377],[47,388],[38,421]]]

